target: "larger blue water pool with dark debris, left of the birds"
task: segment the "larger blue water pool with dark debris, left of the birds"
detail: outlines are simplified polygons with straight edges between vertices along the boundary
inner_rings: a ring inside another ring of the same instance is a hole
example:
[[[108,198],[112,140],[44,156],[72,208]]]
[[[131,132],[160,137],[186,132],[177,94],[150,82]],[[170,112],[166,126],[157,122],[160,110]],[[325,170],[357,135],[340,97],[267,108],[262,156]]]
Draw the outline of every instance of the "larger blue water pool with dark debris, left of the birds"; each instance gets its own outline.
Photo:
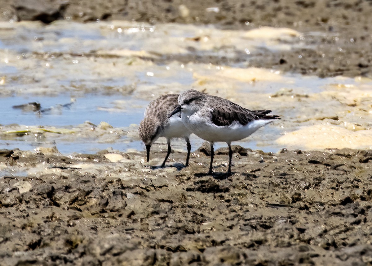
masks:
[[[19,124],[26,126],[55,126],[65,127],[82,124],[90,121],[93,124],[99,124],[101,121],[109,123],[113,127],[127,127],[130,124],[138,124],[143,115],[147,102],[137,100],[136,106],[139,108],[117,109],[118,112],[99,110],[99,108],[115,108],[115,100],[128,100],[130,97],[118,95],[100,95],[86,94],[85,97],[76,98],[71,105],[63,107],[61,105],[70,103],[69,95],[59,95],[58,97],[48,96],[13,96],[0,98],[2,107],[1,124]],[[19,108],[13,108],[15,105],[37,102],[41,104],[41,112],[23,111]],[[43,112],[43,110],[45,110]]]

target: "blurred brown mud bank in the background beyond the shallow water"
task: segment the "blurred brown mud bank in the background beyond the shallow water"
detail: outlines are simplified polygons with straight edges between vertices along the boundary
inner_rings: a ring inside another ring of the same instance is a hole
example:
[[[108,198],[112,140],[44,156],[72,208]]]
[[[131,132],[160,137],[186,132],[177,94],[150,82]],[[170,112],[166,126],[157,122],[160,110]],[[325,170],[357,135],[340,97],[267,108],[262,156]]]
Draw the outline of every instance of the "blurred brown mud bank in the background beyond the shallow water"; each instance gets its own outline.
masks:
[[[250,30],[260,26],[289,27],[302,32],[308,48],[272,53],[262,51],[250,66],[285,72],[330,76],[371,77],[371,1],[5,1],[1,20],[55,19],[78,22],[129,20],[157,23],[213,24],[223,29]],[[31,15],[30,15],[31,14]],[[320,31],[320,39],[308,33]],[[201,58],[203,59],[203,58]],[[186,61],[185,61],[186,60]],[[215,58],[210,58],[215,63]],[[224,64],[226,58],[218,58]],[[238,58],[237,58],[238,60]],[[244,59],[246,60],[246,59]],[[200,63],[198,57],[184,63]],[[228,60],[227,60],[228,61]]]

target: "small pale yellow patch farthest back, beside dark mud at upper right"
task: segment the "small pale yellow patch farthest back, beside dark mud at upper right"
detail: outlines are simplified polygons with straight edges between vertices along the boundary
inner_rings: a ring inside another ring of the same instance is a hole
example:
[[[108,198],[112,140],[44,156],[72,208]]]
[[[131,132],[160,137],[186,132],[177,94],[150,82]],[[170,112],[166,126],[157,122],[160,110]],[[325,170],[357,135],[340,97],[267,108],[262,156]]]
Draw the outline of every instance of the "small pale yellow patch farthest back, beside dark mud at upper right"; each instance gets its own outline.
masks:
[[[261,27],[247,31],[243,37],[251,39],[288,39],[299,37],[301,34],[294,29]]]

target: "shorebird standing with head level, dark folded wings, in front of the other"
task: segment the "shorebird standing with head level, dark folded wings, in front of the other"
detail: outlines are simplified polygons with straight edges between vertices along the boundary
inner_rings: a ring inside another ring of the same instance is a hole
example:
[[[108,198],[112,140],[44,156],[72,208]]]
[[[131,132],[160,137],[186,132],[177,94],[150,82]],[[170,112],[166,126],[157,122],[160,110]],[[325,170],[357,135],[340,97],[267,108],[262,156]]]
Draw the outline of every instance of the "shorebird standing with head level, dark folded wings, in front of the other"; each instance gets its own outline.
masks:
[[[180,94],[178,104],[168,117],[181,113],[182,122],[187,129],[211,144],[208,174],[212,174],[214,142],[226,142],[229,146],[227,175],[231,175],[231,142],[244,139],[260,127],[280,119],[279,115],[267,115],[270,110],[251,111],[227,99],[195,90]]]

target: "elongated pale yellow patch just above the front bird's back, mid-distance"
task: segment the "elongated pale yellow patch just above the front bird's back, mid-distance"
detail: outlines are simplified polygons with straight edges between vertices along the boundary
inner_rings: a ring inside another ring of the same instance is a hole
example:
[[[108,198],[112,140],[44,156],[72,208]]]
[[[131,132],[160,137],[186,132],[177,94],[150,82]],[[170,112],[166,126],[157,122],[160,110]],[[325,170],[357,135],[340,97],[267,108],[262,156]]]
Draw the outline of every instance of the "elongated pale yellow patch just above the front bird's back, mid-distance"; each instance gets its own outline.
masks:
[[[211,75],[193,73],[193,77],[197,79],[197,82],[220,82],[225,79],[236,79],[242,82],[255,82],[255,81],[283,81],[283,76],[279,75],[279,72],[273,72],[269,69],[263,69],[258,67],[250,68],[231,68],[224,67],[221,70],[214,71]],[[288,82],[290,79],[286,79]]]

